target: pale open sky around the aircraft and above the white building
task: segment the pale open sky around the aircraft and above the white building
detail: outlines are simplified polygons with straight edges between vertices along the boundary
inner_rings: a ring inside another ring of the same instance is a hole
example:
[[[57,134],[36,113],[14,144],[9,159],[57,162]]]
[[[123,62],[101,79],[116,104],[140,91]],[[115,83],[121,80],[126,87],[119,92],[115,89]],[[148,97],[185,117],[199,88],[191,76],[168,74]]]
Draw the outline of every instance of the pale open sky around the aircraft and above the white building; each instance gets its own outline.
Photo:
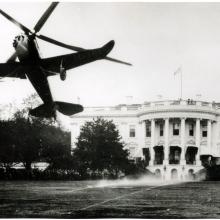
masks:
[[[6,13],[32,29],[48,2],[0,3]],[[180,98],[220,102],[220,3],[61,2],[40,33],[88,49],[115,40],[109,57],[132,67],[101,60],[67,72],[66,81],[49,77],[57,101],[110,106]],[[13,53],[13,38],[22,33],[0,16],[0,62]],[[72,51],[38,40],[42,57]],[[4,79],[0,104],[34,93],[28,80]]]

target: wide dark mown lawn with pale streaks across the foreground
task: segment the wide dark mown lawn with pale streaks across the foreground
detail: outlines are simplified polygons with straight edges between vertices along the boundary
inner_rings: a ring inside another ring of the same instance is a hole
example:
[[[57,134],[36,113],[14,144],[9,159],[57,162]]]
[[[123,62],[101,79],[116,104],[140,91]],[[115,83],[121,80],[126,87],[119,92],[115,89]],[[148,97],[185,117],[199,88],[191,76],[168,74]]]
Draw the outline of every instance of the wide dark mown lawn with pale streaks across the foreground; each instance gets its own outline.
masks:
[[[1,218],[220,218],[218,182],[0,182]]]

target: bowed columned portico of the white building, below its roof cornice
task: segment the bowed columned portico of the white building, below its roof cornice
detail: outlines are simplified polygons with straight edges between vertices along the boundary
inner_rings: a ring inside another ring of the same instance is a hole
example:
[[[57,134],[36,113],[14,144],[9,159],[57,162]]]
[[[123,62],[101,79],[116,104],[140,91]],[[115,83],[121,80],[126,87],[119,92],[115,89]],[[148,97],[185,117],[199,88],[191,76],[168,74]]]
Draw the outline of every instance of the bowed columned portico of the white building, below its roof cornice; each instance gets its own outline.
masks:
[[[148,169],[165,180],[185,180],[203,169],[200,160],[201,123],[207,124],[204,134],[207,148],[211,149],[213,122],[211,119],[191,117],[143,120],[146,139],[150,139],[150,145],[146,146],[150,152]]]

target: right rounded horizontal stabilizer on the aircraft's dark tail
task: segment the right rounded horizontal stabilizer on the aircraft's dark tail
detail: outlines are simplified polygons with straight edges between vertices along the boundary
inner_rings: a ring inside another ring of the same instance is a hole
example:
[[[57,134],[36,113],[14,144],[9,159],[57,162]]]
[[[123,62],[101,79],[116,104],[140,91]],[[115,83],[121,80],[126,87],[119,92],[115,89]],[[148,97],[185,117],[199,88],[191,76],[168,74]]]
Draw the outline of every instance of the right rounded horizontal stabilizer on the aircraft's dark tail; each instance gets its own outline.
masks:
[[[55,102],[56,110],[61,112],[64,115],[74,115],[76,113],[82,112],[83,107],[79,104],[72,104],[66,102]]]

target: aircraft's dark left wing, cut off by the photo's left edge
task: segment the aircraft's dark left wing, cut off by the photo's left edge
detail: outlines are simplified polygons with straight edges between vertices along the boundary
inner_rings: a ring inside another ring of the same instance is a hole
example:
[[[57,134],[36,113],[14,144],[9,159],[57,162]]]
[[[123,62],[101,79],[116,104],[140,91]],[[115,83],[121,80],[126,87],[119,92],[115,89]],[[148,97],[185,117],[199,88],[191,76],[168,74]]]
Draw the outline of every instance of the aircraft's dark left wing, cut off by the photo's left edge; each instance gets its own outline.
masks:
[[[19,62],[0,63],[0,78],[4,77],[26,79],[24,66]]]

